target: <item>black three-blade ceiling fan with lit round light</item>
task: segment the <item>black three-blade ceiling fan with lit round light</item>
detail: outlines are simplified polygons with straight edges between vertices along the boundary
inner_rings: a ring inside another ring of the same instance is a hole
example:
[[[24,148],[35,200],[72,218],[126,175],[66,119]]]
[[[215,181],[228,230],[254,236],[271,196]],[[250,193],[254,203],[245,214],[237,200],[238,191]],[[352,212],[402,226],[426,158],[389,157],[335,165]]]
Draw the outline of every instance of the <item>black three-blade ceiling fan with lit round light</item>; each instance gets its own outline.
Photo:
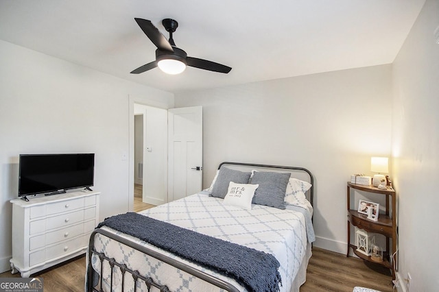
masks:
[[[178,27],[178,22],[174,19],[163,19],[162,24],[166,31],[169,32],[169,41],[163,34],[155,27],[151,21],[146,19],[134,19],[139,27],[143,30],[148,38],[156,45],[156,60],[140,66],[131,71],[132,74],[139,74],[145,71],[160,68],[168,74],[179,74],[185,71],[186,66],[192,66],[198,69],[208,71],[215,71],[219,73],[229,73],[232,68],[212,61],[203,60],[199,58],[188,57],[187,53],[182,49],[176,47],[172,33]]]

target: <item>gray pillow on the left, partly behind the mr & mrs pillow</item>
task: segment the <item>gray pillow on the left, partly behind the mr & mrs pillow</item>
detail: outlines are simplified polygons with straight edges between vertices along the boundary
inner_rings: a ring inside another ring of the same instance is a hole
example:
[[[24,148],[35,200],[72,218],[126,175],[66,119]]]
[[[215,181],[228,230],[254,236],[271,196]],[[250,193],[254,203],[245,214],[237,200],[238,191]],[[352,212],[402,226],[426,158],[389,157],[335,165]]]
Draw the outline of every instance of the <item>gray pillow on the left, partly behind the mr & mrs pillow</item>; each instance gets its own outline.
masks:
[[[211,196],[224,199],[224,197],[227,195],[228,184],[230,184],[230,182],[235,182],[237,184],[248,184],[251,174],[252,173],[250,172],[242,172],[235,169],[222,167],[219,169],[215,184],[213,184]]]

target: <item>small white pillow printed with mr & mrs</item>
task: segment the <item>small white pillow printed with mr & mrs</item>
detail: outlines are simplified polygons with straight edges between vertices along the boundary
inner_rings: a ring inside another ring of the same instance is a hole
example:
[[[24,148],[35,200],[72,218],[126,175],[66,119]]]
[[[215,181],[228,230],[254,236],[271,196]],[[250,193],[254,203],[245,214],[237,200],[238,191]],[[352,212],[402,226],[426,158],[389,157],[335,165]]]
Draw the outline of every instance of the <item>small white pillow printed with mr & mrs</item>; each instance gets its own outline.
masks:
[[[236,184],[235,182],[230,182],[223,204],[252,210],[252,199],[254,191],[256,191],[258,186],[259,184]]]

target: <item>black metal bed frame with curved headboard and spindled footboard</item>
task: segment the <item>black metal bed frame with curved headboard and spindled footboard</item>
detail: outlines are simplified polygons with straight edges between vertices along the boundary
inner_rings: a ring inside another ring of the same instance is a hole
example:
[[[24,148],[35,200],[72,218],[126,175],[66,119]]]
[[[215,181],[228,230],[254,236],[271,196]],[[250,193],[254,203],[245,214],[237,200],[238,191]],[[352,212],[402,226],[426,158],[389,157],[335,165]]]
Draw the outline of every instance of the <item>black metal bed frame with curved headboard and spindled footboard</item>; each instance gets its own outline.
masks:
[[[309,202],[311,203],[311,206],[313,206],[313,175],[312,173],[305,168],[302,167],[287,167],[287,166],[278,166],[278,165],[260,165],[260,164],[252,164],[252,163],[241,163],[241,162],[222,162],[218,169],[220,169],[223,165],[237,165],[242,167],[259,167],[259,168],[268,168],[268,169],[287,169],[290,171],[304,171],[309,175],[309,180],[311,183],[311,188],[308,191],[309,193]],[[204,280],[205,282],[209,282],[213,284],[216,287],[219,287],[221,289],[224,289],[225,291],[230,292],[239,292],[239,289],[237,289],[233,284],[230,284],[222,279],[216,278],[214,276],[209,275],[208,273],[204,273],[203,271],[200,271],[199,269],[195,269],[194,267],[191,267],[189,265],[186,265],[185,263],[181,263],[180,261],[170,258],[169,256],[165,256],[164,254],[160,254],[154,250],[151,250],[150,248],[139,245],[138,243],[134,243],[133,241],[130,241],[128,239],[125,239],[117,234],[114,234],[112,232],[108,232],[107,230],[103,230],[101,228],[95,229],[91,236],[90,240],[88,242],[88,263],[87,263],[87,275],[86,275],[86,291],[92,292],[101,292],[104,291],[102,285],[103,285],[103,277],[99,274],[99,283],[96,285],[95,288],[93,287],[93,278],[95,275],[95,271],[92,266],[92,257],[93,254],[96,254],[99,257],[99,260],[101,262],[100,270],[99,272],[102,273],[102,268],[104,266],[105,262],[108,262],[108,265],[110,265],[111,269],[111,278],[110,278],[110,291],[113,291],[112,283],[113,283],[113,271],[114,269],[119,269],[122,274],[122,282],[121,282],[121,292],[123,292],[124,289],[124,283],[127,280],[132,280],[134,283],[134,292],[137,289],[137,281],[143,281],[145,285],[147,286],[148,291],[152,287],[155,287],[159,289],[159,291],[162,292],[170,292],[168,287],[166,285],[161,285],[156,282],[152,278],[147,278],[139,271],[133,271],[132,269],[129,269],[124,263],[117,263],[115,258],[110,258],[106,256],[102,252],[96,252],[95,251],[95,236],[97,234],[102,234],[103,236],[108,237],[109,239],[118,241],[122,243],[123,245],[126,245],[128,247],[133,248],[134,250],[138,250],[139,252],[142,252],[143,254],[147,254],[148,256],[152,256],[153,258],[156,258],[157,260],[161,260],[163,263],[167,263],[168,265],[171,265],[173,267],[176,267],[182,271],[185,271],[186,273],[191,274],[192,276],[195,276],[196,278],[200,278],[201,280]],[[126,279],[126,273],[129,273],[131,276],[131,279]]]

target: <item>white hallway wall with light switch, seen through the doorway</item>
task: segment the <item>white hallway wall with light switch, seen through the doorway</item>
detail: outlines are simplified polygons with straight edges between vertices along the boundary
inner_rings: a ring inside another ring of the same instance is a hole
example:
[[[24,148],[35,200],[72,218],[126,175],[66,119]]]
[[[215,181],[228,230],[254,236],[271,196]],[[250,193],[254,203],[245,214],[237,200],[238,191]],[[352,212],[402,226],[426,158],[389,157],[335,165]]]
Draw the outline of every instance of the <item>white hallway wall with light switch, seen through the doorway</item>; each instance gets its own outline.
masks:
[[[167,203],[167,110],[134,104],[143,114],[143,202]],[[150,148],[150,151],[147,150]]]

